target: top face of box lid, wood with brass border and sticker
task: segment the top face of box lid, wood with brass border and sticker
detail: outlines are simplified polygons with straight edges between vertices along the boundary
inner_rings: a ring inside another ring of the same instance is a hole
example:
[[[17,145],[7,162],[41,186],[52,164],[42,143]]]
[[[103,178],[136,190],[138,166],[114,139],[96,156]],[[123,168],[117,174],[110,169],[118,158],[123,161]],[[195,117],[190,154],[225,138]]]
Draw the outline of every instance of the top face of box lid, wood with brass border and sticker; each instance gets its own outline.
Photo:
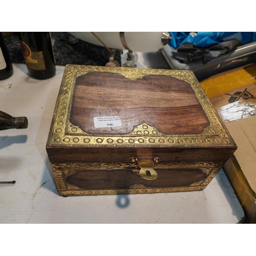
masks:
[[[236,144],[191,71],[67,65],[49,147]]]

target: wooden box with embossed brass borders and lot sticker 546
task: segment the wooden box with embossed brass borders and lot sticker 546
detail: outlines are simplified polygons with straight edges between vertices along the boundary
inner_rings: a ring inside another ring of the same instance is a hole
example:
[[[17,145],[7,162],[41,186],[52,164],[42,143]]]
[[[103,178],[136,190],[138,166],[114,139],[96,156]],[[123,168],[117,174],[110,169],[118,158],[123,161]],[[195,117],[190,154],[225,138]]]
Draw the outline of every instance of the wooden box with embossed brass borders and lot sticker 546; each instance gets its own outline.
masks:
[[[75,65],[47,141],[61,196],[202,190],[236,148],[193,72]]]

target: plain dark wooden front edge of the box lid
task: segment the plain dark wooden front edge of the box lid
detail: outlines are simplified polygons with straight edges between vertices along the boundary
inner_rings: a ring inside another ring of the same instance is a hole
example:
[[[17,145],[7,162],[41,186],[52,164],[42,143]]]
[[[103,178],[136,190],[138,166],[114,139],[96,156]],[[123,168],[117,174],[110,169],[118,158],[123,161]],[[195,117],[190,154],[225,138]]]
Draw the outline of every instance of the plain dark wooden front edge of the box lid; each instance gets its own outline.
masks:
[[[227,161],[236,147],[53,147],[47,152],[51,162],[130,162],[132,158],[153,159],[160,162],[220,162]]]

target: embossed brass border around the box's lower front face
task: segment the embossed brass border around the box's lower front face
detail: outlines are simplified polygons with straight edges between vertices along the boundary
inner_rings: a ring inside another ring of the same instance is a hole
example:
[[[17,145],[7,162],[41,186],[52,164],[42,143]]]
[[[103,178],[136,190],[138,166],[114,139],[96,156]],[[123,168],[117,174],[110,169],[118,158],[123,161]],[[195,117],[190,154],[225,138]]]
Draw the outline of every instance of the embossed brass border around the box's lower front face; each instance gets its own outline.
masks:
[[[142,184],[133,184],[127,189],[82,189],[76,185],[66,182],[66,178],[75,175],[81,170],[99,169],[120,169],[129,168],[138,170],[138,163],[51,163],[53,174],[56,181],[58,192],[61,196],[83,196],[83,195],[118,195],[118,194],[152,194],[170,193],[182,191],[198,191],[204,189],[210,181],[217,175],[223,162],[162,162],[155,163],[156,168],[160,169],[201,169],[206,174],[204,180],[191,184],[187,187],[145,187]]]

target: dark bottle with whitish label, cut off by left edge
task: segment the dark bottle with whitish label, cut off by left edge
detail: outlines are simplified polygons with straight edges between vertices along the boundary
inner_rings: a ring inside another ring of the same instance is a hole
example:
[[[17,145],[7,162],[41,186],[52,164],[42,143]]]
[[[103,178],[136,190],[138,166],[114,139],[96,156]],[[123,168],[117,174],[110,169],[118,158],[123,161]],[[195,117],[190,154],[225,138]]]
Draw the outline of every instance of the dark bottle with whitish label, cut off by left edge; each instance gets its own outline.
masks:
[[[0,80],[8,79],[12,75],[12,62],[5,46],[4,37],[0,32]]]

